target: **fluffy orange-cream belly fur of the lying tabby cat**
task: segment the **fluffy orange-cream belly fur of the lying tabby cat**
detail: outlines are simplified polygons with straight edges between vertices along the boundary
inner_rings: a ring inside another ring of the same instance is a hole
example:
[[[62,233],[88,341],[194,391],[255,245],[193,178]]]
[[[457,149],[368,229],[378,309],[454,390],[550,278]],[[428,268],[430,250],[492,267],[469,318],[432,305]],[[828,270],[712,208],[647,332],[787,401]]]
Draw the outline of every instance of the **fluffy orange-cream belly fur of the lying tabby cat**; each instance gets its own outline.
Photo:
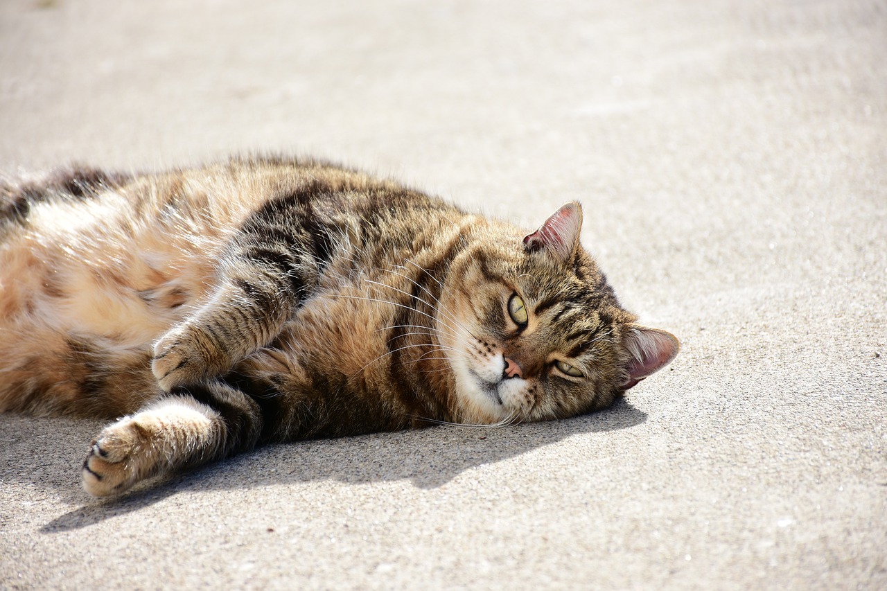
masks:
[[[38,210],[0,244],[0,410],[119,416],[161,393],[152,343],[212,268],[100,213],[65,225],[64,208]]]

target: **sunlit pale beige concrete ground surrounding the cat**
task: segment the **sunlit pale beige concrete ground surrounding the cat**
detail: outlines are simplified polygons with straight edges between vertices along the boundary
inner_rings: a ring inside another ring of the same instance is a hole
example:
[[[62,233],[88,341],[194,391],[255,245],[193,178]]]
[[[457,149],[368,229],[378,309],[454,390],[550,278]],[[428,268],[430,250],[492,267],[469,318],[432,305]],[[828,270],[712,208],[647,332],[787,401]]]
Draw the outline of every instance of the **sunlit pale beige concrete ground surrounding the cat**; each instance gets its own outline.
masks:
[[[0,169],[319,154],[585,204],[679,335],[612,410],[279,445],[121,500],[0,416],[0,587],[887,588],[881,0],[0,3]]]

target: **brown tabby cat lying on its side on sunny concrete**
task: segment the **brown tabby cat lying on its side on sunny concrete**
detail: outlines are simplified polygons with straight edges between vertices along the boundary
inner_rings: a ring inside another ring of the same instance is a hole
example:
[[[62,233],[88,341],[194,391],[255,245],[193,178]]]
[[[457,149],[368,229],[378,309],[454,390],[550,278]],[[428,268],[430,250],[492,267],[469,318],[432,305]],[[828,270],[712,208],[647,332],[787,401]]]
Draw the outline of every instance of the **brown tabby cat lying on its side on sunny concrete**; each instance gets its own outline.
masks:
[[[270,442],[604,408],[679,341],[581,224],[284,157],[4,180],[0,411],[115,419],[81,473],[106,496]]]

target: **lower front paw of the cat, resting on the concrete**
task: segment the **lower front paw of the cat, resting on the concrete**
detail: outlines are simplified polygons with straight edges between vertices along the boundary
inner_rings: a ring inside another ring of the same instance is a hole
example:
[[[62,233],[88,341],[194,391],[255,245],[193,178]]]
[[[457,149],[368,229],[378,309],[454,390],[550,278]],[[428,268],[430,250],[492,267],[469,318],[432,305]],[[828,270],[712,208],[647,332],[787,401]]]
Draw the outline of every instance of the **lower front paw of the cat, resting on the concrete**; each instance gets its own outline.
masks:
[[[137,457],[141,438],[140,429],[130,418],[103,429],[83,461],[83,490],[94,497],[106,497],[135,485],[145,471],[140,465],[144,462]]]

